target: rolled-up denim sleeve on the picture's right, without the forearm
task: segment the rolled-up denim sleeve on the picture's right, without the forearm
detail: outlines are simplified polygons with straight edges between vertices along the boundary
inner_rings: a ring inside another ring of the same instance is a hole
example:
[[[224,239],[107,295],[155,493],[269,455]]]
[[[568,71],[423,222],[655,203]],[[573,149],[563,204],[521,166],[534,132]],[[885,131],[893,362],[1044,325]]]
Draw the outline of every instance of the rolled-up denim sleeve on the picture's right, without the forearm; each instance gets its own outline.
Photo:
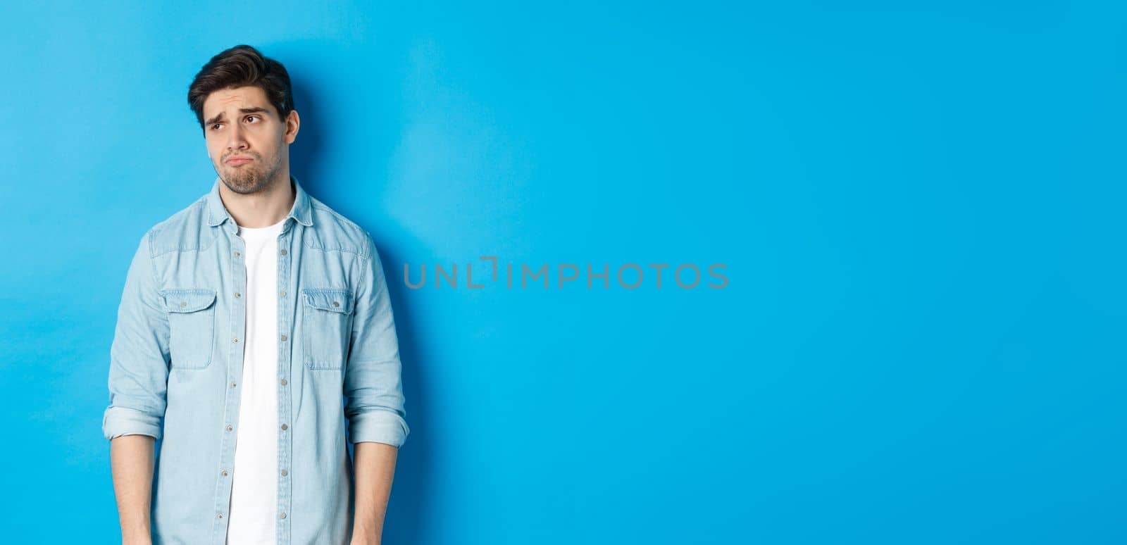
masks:
[[[396,447],[407,440],[399,340],[380,254],[364,233],[367,256],[356,286],[352,340],[344,376],[350,443],[384,443]]]

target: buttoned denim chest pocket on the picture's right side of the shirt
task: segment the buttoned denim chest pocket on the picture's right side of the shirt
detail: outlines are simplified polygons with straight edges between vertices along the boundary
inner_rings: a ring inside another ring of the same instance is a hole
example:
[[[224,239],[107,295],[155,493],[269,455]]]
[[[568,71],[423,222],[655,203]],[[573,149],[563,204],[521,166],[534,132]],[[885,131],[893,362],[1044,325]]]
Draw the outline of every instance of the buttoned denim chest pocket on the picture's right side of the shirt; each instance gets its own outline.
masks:
[[[305,288],[301,295],[305,366],[310,369],[339,369],[352,339],[352,291]]]

